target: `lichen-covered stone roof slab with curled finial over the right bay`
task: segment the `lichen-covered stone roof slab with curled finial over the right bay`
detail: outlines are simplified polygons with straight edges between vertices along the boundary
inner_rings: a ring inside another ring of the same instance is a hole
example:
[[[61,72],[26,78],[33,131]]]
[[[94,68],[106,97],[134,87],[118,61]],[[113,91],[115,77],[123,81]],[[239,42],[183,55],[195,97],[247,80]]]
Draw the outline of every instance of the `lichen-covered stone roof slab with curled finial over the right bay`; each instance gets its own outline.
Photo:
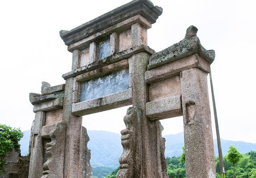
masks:
[[[211,64],[214,61],[215,52],[202,47],[199,38],[196,36],[196,31],[196,27],[188,27],[186,37],[182,41],[152,55],[149,59],[148,70],[195,53]],[[192,32],[194,33],[191,34]]]

